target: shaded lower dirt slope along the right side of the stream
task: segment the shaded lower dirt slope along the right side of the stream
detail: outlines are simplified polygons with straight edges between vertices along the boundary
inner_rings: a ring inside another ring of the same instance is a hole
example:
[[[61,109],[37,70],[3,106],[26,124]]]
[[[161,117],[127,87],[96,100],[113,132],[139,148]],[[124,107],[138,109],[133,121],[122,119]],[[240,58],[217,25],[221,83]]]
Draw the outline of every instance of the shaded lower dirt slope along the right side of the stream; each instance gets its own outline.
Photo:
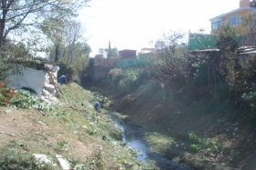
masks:
[[[229,110],[202,112],[196,104],[198,112],[189,113],[187,108],[159,102],[154,95],[127,94],[106,85],[101,86],[101,94],[112,96],[112,106],[126,122],[144,128],[152,151],[195,170],[256,167],[256,128],[243,119],[231,121]]]

